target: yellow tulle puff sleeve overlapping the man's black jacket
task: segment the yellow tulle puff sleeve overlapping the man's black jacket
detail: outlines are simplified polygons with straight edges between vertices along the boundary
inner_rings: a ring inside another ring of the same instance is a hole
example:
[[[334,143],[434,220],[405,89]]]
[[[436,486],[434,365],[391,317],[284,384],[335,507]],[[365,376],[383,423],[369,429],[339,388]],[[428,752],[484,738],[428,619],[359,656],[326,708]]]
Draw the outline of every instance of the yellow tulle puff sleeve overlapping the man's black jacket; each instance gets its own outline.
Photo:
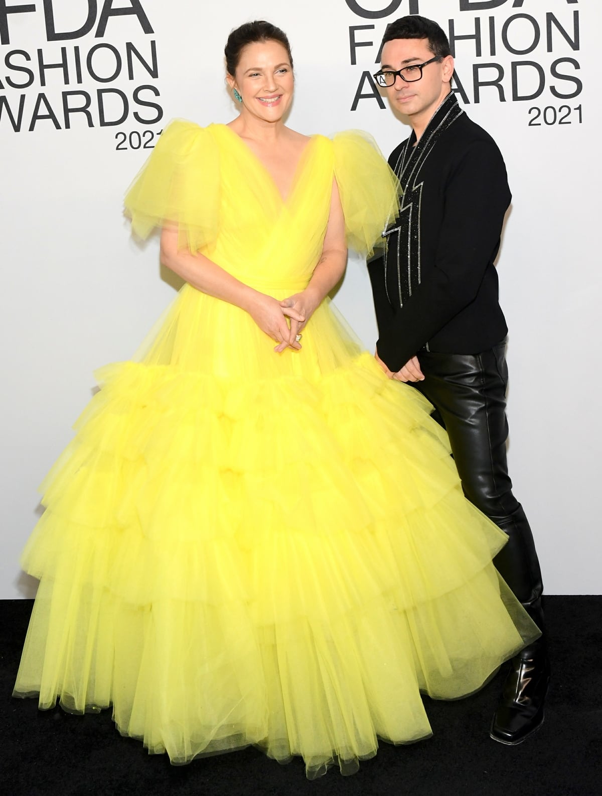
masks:
[[[332,143],[348,247],[371,256],[384,247],[383,229],[398,214],[398,179],[368,133],[345,131]]]

